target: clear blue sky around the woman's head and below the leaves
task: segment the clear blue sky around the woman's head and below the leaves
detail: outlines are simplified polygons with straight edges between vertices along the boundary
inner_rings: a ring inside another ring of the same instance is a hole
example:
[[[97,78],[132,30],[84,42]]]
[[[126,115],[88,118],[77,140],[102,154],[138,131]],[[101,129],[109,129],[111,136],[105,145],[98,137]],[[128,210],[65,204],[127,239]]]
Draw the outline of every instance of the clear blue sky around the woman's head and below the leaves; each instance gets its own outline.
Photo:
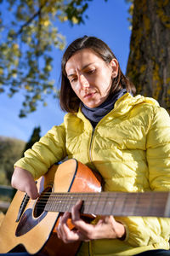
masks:
[[[74,39],[84,36],[96,36],[105,41],[116,55],[122,72],[126,72],[127,59],[129,54],[129,44],[131,31],[127,20],[129,5],[125,0],[94,0],[89,2],[86,11],[88,20],[84,25],[70,26],[68,22],[58,23],[59,32],[65,35],[67,45]],[[59,88],[60,61],[62,51],[54,50],[54,69],[52,79],[56,80]],[[59,108],[59,102],[48,96],[48,106],[41,104],[37,111],[30,113],[26,118],[18,117],[23,95],[16,94],[13,98],[8,98],[5,94],[0,94],[0,136],[15,137],[27,141],[36,126],[41,127],[43,136],[53,125],[63,122],[63,113]]]

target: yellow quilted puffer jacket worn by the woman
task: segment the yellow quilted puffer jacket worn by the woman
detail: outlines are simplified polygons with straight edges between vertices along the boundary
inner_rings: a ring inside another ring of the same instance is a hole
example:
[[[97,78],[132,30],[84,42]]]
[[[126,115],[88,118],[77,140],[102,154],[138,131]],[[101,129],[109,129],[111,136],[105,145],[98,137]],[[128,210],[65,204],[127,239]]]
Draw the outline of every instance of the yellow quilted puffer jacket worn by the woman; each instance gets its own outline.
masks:
[[[170,190],[169,115],[154,99],[127,93],[94,131],[81,110],[67,113],[64,124],[48,131],[15,166],[37,178],[65,156],[98,170],[107,191]],[[126,256],[150,249],[169,249],[170,219],[116,220],[127,226],[125,241],[84,242],[78,255]]]

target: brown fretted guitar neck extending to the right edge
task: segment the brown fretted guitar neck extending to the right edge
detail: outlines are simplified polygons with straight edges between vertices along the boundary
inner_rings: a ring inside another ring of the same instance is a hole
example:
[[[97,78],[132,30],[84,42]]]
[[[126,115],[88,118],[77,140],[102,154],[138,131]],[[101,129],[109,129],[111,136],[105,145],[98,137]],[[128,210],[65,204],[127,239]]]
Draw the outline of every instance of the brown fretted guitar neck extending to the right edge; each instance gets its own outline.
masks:
[[[169,192],[144,193],[50,193],[46,195],[45,211],[71,212],[82,200],[82,213],[114,216],[170,217]]]

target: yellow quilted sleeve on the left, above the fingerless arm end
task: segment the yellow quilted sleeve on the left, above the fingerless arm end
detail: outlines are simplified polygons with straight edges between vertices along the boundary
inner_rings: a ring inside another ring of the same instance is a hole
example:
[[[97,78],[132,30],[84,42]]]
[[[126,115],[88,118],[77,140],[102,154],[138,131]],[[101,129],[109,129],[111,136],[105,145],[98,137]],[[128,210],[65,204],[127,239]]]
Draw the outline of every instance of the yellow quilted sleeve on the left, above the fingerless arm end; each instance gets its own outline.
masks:
[[[65,156],[65,125],[62,124],[54,126],[31,149],[26,150],[25,156],[14,166],[26,169],[34,178],[38,178],[48,172],[48,168],[55,162],[63,160]]]

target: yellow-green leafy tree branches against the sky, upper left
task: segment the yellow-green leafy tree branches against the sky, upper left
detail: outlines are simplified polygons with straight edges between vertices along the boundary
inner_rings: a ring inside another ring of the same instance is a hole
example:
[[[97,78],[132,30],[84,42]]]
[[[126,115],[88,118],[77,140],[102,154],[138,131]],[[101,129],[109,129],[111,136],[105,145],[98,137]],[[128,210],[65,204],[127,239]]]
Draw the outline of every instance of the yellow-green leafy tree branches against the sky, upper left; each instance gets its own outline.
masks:
[[[54,81],[49,79],[52,49],[65,47],[57,22],[83,23],[91,1],[0,0],[4,10],[0,12],[0,92],[12,97],[23,90],[20,117],[35,111],[37,102],[47,105],[47,94],[57,95]]]

